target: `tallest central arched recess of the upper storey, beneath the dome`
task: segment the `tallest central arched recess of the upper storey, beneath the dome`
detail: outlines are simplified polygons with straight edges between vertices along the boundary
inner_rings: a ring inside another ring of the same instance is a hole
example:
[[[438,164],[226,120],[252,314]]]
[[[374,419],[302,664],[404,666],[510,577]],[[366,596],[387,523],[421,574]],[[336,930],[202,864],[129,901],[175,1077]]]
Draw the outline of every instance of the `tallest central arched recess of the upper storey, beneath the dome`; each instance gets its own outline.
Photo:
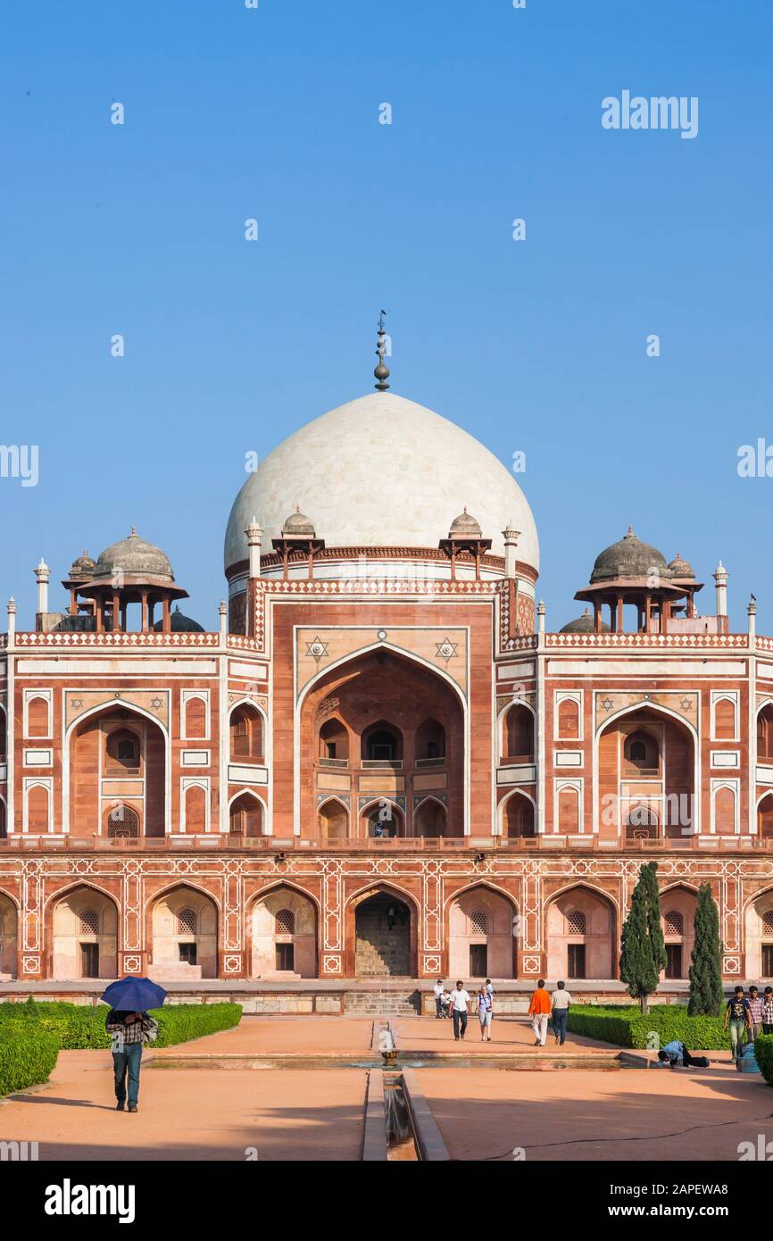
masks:
[[[300,768],[309,772],[304,836],[464,834],[459,697],[393,652],[360,655],[313,686],[300,716]]]

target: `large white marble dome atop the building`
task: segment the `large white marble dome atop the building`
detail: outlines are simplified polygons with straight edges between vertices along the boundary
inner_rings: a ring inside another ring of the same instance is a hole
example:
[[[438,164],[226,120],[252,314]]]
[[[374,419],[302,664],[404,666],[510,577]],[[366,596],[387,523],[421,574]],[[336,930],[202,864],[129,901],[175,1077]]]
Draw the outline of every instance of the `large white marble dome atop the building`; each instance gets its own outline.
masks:
[[[517,558],[540,567],[537,527],[510,470],[462,427],[391,392],[324,413],[261,462],[231,509],[226,572],[247,560],[253,516],[266,555],[297,508],[328,547],[437,547],[467,508],[494,555],[504,556],[511,524]]]

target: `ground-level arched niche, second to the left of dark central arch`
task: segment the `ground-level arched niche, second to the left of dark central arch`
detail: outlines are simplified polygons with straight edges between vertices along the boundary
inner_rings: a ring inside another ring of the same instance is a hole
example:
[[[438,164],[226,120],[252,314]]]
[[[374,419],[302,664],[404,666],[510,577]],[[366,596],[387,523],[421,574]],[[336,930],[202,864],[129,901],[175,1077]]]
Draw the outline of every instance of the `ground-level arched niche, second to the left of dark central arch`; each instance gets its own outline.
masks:
[[[217,906],[194,887],[163,892],[151,907],[150,977],[217,978]]]

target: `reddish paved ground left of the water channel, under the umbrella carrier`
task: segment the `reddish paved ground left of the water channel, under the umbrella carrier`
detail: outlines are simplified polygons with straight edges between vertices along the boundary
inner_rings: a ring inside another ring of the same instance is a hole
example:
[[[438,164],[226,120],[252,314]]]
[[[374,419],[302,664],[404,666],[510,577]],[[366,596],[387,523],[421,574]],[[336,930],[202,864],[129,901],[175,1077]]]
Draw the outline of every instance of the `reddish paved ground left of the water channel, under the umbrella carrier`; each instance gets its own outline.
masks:
[[[203,1040],[201,1040],[203,1041]],[[107,1051],[62,1051],[46,1086],[0,1103],[0,1140],[41,1160],[357,1160],[366,1072],[150,1069],[140,1111],[115,1112]]]

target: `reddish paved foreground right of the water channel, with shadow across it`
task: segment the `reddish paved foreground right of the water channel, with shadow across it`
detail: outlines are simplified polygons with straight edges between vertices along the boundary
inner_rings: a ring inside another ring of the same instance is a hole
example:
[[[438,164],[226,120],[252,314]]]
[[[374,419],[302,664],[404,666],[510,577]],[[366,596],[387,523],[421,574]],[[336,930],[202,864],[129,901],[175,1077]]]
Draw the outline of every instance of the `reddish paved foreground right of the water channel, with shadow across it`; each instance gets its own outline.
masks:
[[[519,1147],[527,1160],[649,1159],[665,1169],[684,1159],[737,1160],[739,1142],[773,1138],[771,1088],[731,1066],[418,1069],[414,1076],[452,1159],[512,1159]]]

